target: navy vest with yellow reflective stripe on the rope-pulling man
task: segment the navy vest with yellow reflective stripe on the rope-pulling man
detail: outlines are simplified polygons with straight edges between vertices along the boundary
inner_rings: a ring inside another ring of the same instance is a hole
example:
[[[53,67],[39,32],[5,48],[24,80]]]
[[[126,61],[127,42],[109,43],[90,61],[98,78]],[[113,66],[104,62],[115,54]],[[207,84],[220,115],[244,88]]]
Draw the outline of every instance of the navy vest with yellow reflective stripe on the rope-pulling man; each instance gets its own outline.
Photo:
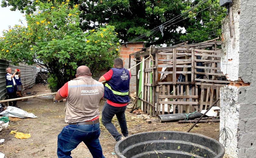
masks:
[[[113,75],[104,87],[104,98],[114,103],[128,103],[130,72],[125,68],[112,68]]]

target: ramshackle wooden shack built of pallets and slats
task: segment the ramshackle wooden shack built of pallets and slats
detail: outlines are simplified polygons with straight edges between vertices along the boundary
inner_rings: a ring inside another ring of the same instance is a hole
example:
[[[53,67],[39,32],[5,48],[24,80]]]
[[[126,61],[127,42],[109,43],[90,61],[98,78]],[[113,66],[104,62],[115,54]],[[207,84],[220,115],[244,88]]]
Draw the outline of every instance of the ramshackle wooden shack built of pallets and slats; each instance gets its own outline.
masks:
[[[214,39],[169,47],[150,46],[130,54],[129,62],[131,56],[137,64],[141,62],[136,66],[136,106],[148,115],[207,109],[219,98],[220,87],[229,84],[220,71],[221,43]]]

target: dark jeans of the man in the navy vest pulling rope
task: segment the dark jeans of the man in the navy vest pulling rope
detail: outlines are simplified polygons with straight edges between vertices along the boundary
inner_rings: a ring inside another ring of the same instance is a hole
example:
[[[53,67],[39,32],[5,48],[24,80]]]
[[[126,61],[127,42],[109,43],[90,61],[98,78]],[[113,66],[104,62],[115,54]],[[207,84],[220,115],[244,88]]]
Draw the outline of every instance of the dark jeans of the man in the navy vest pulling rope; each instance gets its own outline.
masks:
[[[115,107],[112,105],[109,105],[107,101],[105,102],[103,108],[102,108],[102,124],[105,126],[105,128],[108,130],[108,132],[116,139],[116,141],[121,140],[122,135],[116,130],[116,127],[111,122],[113,117],[116,115],[116,118],[119,122],[121,132],[123,136],[128,136],[128,129],[125,119],[125,110],[126,106],[123,107]]]

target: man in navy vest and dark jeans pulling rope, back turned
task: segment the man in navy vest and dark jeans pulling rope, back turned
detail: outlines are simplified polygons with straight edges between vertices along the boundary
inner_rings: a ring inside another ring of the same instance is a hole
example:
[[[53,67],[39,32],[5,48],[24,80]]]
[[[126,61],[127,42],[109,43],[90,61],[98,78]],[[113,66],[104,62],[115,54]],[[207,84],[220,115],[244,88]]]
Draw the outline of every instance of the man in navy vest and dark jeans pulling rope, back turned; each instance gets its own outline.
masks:
[[[106,81],[104,87],[104,98],[107,99],[102,108],[102,124],[108,132],[116,139],[121,140],[122,135],[112,124],[114,115],[119,122],[124,137],[128,136],[128,129],[125,119],[126,105],[129,103],[130,69],[123,68],[123,60],[116,58],[114,68],[100,77],[99,82]]]

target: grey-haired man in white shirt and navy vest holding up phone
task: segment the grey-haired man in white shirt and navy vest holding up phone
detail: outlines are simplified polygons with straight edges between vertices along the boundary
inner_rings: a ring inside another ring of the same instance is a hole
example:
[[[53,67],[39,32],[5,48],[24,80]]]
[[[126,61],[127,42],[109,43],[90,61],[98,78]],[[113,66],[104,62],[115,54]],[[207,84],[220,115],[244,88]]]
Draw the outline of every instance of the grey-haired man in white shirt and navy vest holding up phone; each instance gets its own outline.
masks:
[[[15,79],[19,78],[19,73],[17,71],[17,69],[15,69],[15,73],[12,74],[12,69],[10,67],[7,67],[6,69],[7,74],[5,75],[5,79],[6,79],[6,90],[7,90],[7,94],[9,96],[9,99],[13,99],[13,98],[17,98],[17,94],[16,94],[16,82]],[[17,107],[17,101],[9,101],[9,106],[14,106],[16,108],[20,108]]]

